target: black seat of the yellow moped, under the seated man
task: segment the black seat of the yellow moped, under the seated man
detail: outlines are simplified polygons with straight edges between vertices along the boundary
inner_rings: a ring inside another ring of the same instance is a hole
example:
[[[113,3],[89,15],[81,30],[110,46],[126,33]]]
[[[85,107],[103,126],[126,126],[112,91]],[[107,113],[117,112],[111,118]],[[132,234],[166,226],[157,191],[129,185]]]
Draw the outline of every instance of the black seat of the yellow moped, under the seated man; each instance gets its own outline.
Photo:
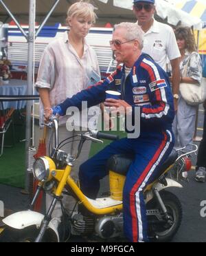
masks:
[[[176,150],[173,149],[168,159],[164,162],[163,165],[161,165],[159,169],[159,175],[161,175],[161,173],[168,169],[177,158],[178,153],[176,152]],[[111,158],[109,158],[107,162],[107,169],[110,171],[114,171],[115,173],[119,173],[121,175],[126,175],[130,167],[130,164],[133,162],[133,159],[133,156],[128,156],[126,154],[114,155]]]

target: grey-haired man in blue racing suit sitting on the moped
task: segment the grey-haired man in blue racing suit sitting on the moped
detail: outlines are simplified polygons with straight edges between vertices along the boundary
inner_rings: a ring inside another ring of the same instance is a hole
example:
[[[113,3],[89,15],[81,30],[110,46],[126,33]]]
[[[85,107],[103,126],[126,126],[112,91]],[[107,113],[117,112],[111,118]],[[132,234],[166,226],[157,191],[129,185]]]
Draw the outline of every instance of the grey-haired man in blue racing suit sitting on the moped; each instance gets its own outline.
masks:
[[[157,175],[174,146],[172,121],[174,104],[167,74],[150,56],[142,54],[143,32],[135,23],[115,25],[110,42],[118,63],[124,63],[106,80],[67,98],[53,108],[53,114],[66,114],[71,106],[81,109],[82,101],[88,107],[105,102],[108,107],[124,107],[135,118],[140,108],[139,138],[123,138],[112,142],[80,167],[80,185],[83,193],[95,198],[100,179],[108,174],[106,162],[115,154],[134,156],[124,185],[124,232],[130,242],[147,242],[146,206],[144,188]],[[126,76],[128,74],[128,76]],[[106,99],[106,90],[122,92],[122,99]],[[106,100],[105,100],[106,99]],[[135,121],[135,120],[133,120]]]

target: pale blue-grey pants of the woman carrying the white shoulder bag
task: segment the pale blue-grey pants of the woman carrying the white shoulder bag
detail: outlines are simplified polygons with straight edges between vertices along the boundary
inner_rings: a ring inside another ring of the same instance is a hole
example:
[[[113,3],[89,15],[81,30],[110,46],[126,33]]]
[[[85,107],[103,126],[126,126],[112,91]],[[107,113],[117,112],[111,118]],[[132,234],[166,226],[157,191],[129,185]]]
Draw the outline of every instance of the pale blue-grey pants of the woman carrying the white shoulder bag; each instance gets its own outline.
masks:
[[[182,97],[179,98],[178,111],[172,125],[175,147],[185,147],[192,143],[195,131],[196,109],[196,106],[188,105]]]

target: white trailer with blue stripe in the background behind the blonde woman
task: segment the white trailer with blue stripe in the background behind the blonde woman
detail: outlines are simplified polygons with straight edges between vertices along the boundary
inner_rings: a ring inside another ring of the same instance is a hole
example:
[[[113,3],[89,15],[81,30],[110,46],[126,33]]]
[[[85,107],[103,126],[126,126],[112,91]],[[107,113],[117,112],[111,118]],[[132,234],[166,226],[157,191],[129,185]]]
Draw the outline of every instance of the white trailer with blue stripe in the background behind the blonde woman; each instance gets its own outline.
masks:
[[[22,26],[27,32],[28,26]],[[38,29],[38,27],[36,27]],[[68,30],[60,24],[54,26],[45,26],[38,34],[35,40],[34,63],[37,72],[41,56],[48,43],[62,36]],[[91,28],[87,35],[87,42],[93,47],[100,65],[102,76],[115,70],[116,62],[113,60],[113,52],[109,45],[112,38],[112,28]],[[12,63],[12,69],[22,72],[27,70],[28,44],[25,36],[16,25],[10,25],[8,28],[8,59]]]

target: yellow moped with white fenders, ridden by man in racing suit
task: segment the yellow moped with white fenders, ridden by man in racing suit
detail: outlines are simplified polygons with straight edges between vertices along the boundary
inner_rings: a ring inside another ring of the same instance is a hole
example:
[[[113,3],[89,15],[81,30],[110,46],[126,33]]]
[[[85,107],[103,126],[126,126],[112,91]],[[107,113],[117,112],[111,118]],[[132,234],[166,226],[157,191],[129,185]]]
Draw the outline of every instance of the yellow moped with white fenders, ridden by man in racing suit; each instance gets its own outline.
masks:
[[[92,200],[85,196],[78,184],[71,178],[73,163],[76,161],[84,142],[102,142],[100,139],[117,140],[117,136],[104,134],[99,131],[89,131],[81,134],[80,144],[76,156],[62,151],[60,148],[74,138],[58,142],[58,119],[50,118],[49,127],[55,131],[55,147],[50,157],[43,156],[34,163],[34,178],[38,180],[38,188],[32,200],[30,210],[14,213],[3,219],[4,231],[0,235],[1,242],[63,242],[71,235],[93,236],[107,240],[123,235],[122,191],[126,172],[133,162],[131,156],[113,156],[108,160],[109,195]],[[51,138],[52,140],[52,138]],[[179,151],[173,150],[168,160],[161,166],[159,175],[149,184],[145,191],[145,201],[148,217],[148,235],[157,242],[168,242],[174,237],[181,225],[181,202],[173,193],[167,191],[169,187],[182,188],[174,180],[182,173],[189,171],[191,164],[189,156],[197,151],[196,145],[190,145],[192,150],[179,156]],[[168,178],[170,175],[170,178]],[[33,211],[34,204],[41,191],[53,196],[52,203],[45,215]],[[65,192],[67,191],[67,192]],[[77,211],[67,214],[62,205],[63,230],[67,231],[60,239],[57,228],[52,224],[52,213],[62,195],[72,195],[76,199]],[[78,206],[78,207],[77,207]],[[67,235],[66,235],[67,233]],[[124,238],[119,238],[121,242]],[[117,241],[117,238],[116,240]]]

